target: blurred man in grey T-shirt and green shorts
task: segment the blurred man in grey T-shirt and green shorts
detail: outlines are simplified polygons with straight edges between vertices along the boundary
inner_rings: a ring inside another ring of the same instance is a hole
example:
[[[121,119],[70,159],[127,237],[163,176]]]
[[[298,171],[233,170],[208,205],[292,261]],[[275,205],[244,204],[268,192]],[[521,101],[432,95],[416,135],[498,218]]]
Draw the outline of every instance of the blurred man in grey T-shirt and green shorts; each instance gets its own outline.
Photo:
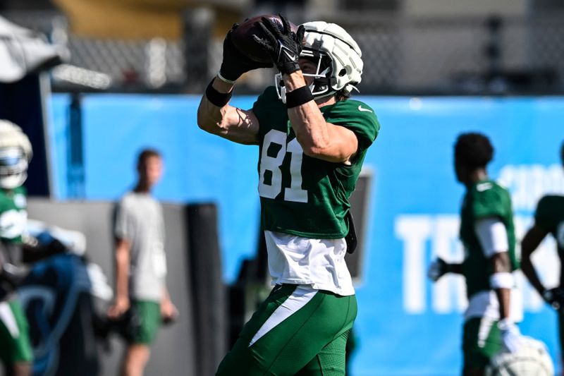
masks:
[[[116,208],[116,301],[108,315],[126,316],[128,348],[122,375],[140,376],[161,322],[178,312],[166,289],[164,219],[151,190],[162,176],[157,150],[143,150],[137,159],[137,185]]]

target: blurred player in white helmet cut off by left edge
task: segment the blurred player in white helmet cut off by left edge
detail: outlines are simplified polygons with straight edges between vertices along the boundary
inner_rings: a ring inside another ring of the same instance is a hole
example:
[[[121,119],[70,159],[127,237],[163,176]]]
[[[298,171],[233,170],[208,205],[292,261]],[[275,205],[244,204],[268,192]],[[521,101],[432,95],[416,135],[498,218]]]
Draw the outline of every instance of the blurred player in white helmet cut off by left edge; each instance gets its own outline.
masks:
[[[33,355],[27,319],[14,293],[27,274],[22,266],[27,224],[22,185],[31,157],[30,140],[20,127],[0,120],[0,359],[9,376],[30,375]]]

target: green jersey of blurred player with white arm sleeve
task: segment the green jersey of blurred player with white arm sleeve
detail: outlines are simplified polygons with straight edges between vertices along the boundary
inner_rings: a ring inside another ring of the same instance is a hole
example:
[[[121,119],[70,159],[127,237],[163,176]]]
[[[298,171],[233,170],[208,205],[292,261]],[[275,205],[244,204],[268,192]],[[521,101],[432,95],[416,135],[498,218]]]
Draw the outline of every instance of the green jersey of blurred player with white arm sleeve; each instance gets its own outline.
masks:
[[[489,276],[493,272],[491,262],[486,258],[474,229],[478,219],[496,217],[503,222],[507,230],[512,267],[516,269],[518,266],[513,209],[508,190],[495,181],[479,181],[467,190],[460,217],[460,240],[465,248],[462,274],[466,279],[466,293],[470,298],[474,293],[490,289]]]

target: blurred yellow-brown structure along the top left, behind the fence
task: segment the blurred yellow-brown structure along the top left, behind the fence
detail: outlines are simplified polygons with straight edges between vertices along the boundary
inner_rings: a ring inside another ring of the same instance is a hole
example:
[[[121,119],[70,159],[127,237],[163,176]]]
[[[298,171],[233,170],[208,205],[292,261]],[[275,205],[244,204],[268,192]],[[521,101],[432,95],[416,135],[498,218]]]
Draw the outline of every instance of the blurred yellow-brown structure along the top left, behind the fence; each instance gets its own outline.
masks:
[[[54,0],[70,20],[71,31],[81,37],[178,40],[183,32],[183,12],[206,6],[192,0]],[[225,35],[241,20],[240,8],[214,6],[214,35]]]

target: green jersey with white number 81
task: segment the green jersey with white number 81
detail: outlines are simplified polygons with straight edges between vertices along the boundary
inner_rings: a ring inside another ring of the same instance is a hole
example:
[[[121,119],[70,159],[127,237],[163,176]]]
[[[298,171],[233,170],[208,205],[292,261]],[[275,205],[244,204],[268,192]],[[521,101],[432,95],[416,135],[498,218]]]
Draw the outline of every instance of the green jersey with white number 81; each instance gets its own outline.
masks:
[[[305,238],[343,238],[348,198],[368,147],[380,125],[374,110],[352,99],[321,107],[328,123],[355,133],[358,151],[352,164],[308,157],[295,138],[286,105],[268,87],[252,111],[259,120],[259,195],[263,230]]]

